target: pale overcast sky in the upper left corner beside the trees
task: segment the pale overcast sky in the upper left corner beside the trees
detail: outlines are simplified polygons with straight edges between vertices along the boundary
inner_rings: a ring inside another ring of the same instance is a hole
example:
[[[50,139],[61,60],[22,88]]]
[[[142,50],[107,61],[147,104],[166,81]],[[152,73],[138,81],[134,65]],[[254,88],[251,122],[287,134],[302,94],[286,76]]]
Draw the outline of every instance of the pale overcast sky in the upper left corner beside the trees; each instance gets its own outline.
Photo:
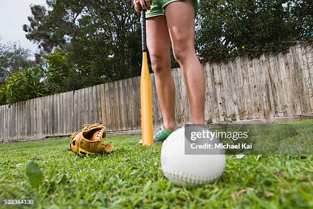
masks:
[[[0,0],[0,37],[1,43],[20,42],[24,48],[35,52],[37,47],[32,44],[23,31],[23,25],[29,24],[30,5],[46,5],[46,0]]]

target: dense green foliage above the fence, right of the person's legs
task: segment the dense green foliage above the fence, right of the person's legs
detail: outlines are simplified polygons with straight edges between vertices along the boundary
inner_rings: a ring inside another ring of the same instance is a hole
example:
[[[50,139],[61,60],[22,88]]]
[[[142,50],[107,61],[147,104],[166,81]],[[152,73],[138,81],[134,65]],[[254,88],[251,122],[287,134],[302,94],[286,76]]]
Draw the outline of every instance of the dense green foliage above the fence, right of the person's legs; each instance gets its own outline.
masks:
[[[196,45],[203,61],[287,49],[313,39],[311,0],[202,0]]]

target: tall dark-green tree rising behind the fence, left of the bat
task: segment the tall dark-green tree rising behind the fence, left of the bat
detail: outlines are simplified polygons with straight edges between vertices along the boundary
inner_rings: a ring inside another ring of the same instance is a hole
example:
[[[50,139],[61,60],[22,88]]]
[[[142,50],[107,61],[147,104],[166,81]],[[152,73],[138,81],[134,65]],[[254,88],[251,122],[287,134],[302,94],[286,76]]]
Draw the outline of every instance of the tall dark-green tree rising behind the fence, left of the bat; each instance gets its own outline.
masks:
[[[79,77],[75,89],[140,74],[140,15],[126,1],[47,1],[32,6],[27,38],[49,53],[68,53]],[[42,36],[44,38],[42,38]],[[46,47],[49,46],[49,47]]]

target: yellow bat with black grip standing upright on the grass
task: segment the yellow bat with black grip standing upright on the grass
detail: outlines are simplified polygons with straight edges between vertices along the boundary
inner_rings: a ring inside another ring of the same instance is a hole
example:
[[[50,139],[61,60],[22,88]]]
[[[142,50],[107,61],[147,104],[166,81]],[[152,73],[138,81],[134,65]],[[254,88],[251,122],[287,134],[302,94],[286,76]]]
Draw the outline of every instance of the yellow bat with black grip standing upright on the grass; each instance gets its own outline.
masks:
[[[153,145],[151,80],[147,58],[146,11],[141,8],[142,68],[140,77],[142,145]]]

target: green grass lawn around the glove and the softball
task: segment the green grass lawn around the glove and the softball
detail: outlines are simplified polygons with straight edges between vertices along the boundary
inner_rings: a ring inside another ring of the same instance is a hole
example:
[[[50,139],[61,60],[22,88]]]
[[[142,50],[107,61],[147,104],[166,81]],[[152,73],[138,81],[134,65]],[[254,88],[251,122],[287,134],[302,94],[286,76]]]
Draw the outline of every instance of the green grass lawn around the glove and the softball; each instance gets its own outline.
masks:
[[[313,120],[301,123],[313,125]],[[0,144],[0,208],[10,208],[5,199],[34,199],[36,208],[313,207],[312,155],[227,156],[218,181],[186,189],[163,176],[162,144],[143,148],[139,139],[107,137],[114,152],[86,158],[68,150],[70,138]],[[29,161],[43,173],[39,189],[26,175]]]

